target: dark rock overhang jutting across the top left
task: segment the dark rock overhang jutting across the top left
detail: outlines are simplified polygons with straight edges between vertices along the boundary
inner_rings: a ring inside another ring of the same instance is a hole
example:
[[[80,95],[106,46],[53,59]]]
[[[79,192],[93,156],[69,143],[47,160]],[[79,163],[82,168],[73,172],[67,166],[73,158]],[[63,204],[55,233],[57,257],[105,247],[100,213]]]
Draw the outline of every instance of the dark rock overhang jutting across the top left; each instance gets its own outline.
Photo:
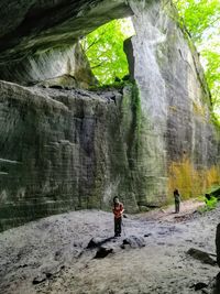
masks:
[[[0,4],[0,64],[73,45],[99,25],[131,14],[124,0],[3,0]]]

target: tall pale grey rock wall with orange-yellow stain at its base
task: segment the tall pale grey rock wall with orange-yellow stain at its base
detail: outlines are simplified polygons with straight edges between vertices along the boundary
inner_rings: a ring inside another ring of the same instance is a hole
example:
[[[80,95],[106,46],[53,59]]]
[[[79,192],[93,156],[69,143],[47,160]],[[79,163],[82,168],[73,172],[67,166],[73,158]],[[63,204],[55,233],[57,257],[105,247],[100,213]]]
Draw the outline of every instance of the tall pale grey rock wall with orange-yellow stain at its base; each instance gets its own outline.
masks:
[[[141,97],[142,202],[184,197],[219,184],[219,129],[198,53],[169,1],[130,1],[134,78]]]

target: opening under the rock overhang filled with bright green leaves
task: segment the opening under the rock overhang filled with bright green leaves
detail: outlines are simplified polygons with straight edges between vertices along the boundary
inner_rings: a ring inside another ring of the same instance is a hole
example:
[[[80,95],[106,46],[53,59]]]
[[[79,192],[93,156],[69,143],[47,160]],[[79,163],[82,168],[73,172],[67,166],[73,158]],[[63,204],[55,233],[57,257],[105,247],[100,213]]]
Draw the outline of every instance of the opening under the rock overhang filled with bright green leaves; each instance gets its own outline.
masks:
[[[124,41],[135,35],[131,18],[103,24],[86,35],[82,50],[99,86],[121,84],[129,78],[129,63]]]

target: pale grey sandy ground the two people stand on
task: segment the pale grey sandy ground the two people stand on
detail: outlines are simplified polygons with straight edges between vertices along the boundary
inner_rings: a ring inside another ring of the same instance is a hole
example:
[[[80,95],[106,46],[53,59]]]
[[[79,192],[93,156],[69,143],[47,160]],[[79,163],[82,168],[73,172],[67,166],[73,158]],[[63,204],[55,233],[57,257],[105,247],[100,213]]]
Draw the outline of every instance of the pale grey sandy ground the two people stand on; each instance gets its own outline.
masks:
[[[128,215],[117,239],[111,238],[112,214],[98,210],[53,216],[4,231],[0,233],[0,293],[195,293],[194,284],[209,283],[219,272],[217,265],[186,254],[189,248],[216,251],[220,207],[201,216],[194,213],[200,205],[186,202],[179,215],[173,214],[173,207]],[[122,249],[131,236],[145,246]],[[94,259],[97,248],[87,249],[91,238],[112,253]],[[196,293],[211,293],[206,291]]]

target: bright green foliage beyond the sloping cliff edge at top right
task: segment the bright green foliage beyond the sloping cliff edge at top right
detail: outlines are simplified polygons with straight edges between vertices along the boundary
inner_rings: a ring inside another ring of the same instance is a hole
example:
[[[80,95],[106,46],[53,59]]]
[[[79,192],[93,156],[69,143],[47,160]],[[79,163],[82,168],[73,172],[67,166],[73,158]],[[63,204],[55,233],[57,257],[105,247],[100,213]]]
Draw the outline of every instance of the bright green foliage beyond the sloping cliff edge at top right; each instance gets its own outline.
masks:
[[[174,0],[174,3],[200,52],[213,111],[220,123],[220,1]]]

